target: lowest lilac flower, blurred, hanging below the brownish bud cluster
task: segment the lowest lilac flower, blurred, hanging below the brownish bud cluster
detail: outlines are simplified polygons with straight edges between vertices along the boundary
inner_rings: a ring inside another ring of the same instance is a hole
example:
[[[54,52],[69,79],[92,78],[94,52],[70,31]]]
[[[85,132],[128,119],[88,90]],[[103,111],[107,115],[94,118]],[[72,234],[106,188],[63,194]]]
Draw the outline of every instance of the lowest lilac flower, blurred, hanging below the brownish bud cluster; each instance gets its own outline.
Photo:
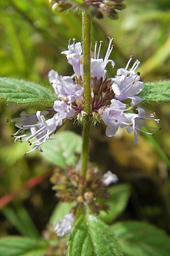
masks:
[[[58,237],[63,237],[65,234],[71,233],[74,222],[74,214],[66,214],[62,220],[54,222],[54,230]]]

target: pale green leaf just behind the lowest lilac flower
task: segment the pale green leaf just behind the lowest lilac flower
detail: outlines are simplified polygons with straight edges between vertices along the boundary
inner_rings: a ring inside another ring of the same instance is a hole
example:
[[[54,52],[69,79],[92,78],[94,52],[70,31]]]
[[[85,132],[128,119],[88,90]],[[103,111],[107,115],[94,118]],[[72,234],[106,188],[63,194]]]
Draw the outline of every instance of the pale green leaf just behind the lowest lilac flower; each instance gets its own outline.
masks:
[[[52,215],[50,216],[49,224],[54,224],[55,221],[62,220],[62,218],[70,212],[74,205],[75,203],[59,202],[56,208],[54,208]]]

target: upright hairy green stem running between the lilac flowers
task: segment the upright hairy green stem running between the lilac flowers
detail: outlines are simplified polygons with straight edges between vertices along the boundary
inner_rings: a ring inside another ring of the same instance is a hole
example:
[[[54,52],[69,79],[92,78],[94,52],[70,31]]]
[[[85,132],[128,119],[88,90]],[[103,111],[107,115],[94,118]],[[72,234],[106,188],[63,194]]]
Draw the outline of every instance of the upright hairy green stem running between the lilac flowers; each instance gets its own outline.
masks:
[[[91,63],[91,30],[92,20],[86,11],[82,14],[82,38],[83,38],[83,82],[84,82],[84,111],[87,113],[86,122],[83,125],[83,146],[82,146],[82,177],[86,178],[87,163],[90,147],[91,130],[91,84],[90,84],[90,63]]]

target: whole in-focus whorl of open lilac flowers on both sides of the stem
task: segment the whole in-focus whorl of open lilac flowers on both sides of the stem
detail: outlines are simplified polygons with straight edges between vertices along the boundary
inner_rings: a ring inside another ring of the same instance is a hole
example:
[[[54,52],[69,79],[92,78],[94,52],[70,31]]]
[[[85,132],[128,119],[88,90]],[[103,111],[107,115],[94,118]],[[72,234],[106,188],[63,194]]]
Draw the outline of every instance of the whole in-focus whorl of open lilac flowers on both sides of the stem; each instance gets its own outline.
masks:
[[[91,115],[94,123],[102,119],[107,125],[106,135],[112,137],[119,127],[126,127],[128,133],[134,131],[134,144],[138,141],[139,131],[145,127],[145,119],[155,119],[155,113],[145,114],[145,110],[138,106],[142,98],[137,96],[144,85],[140,81],[140,72],[137,72],[139,60],[136,60],[129,68],[133,57],[131,56],[125,68],[119,68],[116,76],[109,79],[107,76],[107,64],[114,61],[109,59],[113,45],[112,38],[109,38],[109,46],[105,57],[100,58],[102,41],[95,43],[94,56],[91,58],[91,113],[84,112],[83,95],[83,53],[80,42],[68,44],[68,49],[61,52],[66,55],[67,61],[74,70],[73,76],[59,76],[56,71],[49,72],[49,81],[56,94],[56,101],[52,107],[44,112],[37,111],[35,114],[22,112],[20,118],[12,119],[18,131],[12,136],[20,142],[28,142],[33,145],[31,150],[38,148],[41,151],[41,144],[51,139],[67,119],[77,119],[82,124],[86,114]],[[152,134],[153,133],[148,133]]]

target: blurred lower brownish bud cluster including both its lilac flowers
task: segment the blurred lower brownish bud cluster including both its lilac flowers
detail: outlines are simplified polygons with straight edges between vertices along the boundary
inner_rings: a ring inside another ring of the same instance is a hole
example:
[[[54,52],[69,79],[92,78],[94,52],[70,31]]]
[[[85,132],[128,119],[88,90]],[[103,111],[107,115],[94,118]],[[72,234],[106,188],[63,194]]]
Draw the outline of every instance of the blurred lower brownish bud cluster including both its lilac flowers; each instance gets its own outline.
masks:
[[[108,206],[104,204],[108,199],[109,193],[105,187],[118,181],[116,174],[107,171],[103,176],[98,168],[88,163],[86,180],[80,176],[80,162],[75,167],[67,168],[67,170],[56,169],[51,177],[54,183],[53,189],[57,191],[57,197],[64,202],[76,202],[76,205],[88,205],[94,213],[99,210],[108,210]],[[79,187],[86,183],[86,189]],[[58,237],[69,234],[73,227],[75,219],[76,205],[69,214],[66,214],[62,220],[54,222],[54,230]]]

